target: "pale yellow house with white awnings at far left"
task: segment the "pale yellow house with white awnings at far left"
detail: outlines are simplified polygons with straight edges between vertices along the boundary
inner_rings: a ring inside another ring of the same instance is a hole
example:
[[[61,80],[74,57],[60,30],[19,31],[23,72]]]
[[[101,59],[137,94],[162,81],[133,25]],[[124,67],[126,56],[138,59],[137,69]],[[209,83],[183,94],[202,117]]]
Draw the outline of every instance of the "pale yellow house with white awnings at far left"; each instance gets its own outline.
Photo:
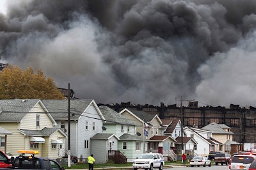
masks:
[[[0,149],[6,146],[15,156],[18,150],[36,150],[38,157],[62,157],[67,135],[51,114],[38,99],[0,100],[0,127],[12,132],[8,140],[0,135]]]

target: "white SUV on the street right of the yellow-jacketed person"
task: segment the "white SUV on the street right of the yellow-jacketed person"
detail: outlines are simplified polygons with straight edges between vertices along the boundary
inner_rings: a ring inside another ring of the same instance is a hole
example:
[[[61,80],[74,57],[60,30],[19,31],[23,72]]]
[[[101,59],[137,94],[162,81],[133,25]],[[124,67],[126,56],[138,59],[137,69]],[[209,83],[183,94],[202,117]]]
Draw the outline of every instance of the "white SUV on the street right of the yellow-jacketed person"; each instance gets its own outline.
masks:
[[[137,169],[150,169],[158,167],[162,170],[164,167],[164,157],[161,153],[144,153],[139,158],[133,160],[132,167]]]

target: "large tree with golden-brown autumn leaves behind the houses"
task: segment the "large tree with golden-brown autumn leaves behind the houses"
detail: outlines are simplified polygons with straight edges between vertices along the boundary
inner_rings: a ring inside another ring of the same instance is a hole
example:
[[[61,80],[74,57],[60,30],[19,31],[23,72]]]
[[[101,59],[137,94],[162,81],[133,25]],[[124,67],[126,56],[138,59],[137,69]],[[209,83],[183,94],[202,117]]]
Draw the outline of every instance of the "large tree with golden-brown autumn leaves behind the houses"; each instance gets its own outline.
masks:
[[[0,99],[64,99],[51,77],[41,70],[34,72],[29,66],[22,71],[18,66],[8,66],[0,72]]]

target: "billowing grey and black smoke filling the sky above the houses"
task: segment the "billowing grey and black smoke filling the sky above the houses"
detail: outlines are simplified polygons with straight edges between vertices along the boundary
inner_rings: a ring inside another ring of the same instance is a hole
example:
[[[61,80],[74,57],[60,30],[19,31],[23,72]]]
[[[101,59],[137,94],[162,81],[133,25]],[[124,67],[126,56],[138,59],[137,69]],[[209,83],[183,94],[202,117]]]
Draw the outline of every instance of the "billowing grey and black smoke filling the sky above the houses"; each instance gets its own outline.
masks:
[[[254,0],[3,3],[0,63],[41,69],[77,98],[256,107]]]

